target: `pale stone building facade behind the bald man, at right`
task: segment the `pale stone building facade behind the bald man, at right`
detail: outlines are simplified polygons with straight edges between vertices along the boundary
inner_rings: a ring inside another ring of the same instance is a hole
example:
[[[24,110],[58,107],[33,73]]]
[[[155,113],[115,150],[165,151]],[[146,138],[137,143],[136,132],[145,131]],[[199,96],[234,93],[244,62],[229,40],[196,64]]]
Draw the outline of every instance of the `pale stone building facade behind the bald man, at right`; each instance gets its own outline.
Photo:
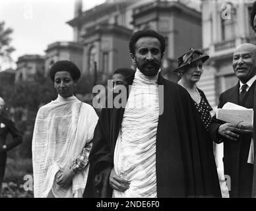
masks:
[[[203,49],[210,55],[198,86],[211,106],[218,105],[218,96],[234,86],[232,57],[238,45],[256,44],[250,26],[253,0],[205,0],[202,3]]]

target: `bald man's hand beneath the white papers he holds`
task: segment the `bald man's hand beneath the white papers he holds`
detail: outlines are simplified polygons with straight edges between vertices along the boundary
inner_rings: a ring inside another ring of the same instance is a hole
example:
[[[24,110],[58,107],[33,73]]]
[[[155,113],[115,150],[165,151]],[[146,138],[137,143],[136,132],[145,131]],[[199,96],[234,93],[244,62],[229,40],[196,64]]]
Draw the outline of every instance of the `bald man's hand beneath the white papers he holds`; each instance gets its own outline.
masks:
[[[218,128],[218,134],[230,140],[238,140],[240,129],[231,123],[225,123]]]

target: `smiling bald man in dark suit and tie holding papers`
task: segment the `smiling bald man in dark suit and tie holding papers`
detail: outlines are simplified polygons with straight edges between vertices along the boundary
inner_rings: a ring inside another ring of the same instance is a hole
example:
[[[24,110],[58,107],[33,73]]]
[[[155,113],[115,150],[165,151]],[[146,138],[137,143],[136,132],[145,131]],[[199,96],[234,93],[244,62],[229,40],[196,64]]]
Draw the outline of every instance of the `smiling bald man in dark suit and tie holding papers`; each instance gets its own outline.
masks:
[[[256,46],[241,44],[233,55],[233,69],[239,82],[220,95],[218,107],[232,102],[253,108],[256,85]],[[230,176],[230,197],[251,197],[253,182],[252,150],[253,127],[232,125],[213,119],[210,136],[216,143],[224,143],[224,174]]]

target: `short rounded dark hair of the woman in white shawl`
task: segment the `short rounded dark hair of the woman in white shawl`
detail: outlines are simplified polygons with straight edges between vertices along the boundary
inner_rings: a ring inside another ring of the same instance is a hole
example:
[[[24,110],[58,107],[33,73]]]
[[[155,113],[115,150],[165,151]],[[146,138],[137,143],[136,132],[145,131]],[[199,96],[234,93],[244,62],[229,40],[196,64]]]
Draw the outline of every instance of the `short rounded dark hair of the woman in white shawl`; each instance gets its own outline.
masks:
[[[77,67],[77,65],[75,65],[75,63],[73,63],[72,61],[61,60],[61,61],[55,62],[51,66],[51,69],[49,70],[49,77],[53,82],[54,82],[55,74],[61,71],[69,72],[75,82],[79,80],[81,75],[80,70]]]

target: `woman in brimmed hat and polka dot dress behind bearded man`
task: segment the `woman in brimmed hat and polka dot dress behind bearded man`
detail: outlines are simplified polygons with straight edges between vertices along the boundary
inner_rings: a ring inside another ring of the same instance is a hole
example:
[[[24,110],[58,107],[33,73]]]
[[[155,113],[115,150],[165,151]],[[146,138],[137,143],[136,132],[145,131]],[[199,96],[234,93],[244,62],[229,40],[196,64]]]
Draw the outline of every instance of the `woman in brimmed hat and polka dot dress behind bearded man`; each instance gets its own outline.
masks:
[[[187,53],[178,58],[179,67],[175,70],[181,76],[178,84],[183,86],[194,100],[207,131],[210,127],[210,111],[212,111],[212,107],[210,107],[204,92],[197,87],[196,83],[201,78],[203,63],[208,58],[208,55],[203,55],[198,49],[191,48]]]

